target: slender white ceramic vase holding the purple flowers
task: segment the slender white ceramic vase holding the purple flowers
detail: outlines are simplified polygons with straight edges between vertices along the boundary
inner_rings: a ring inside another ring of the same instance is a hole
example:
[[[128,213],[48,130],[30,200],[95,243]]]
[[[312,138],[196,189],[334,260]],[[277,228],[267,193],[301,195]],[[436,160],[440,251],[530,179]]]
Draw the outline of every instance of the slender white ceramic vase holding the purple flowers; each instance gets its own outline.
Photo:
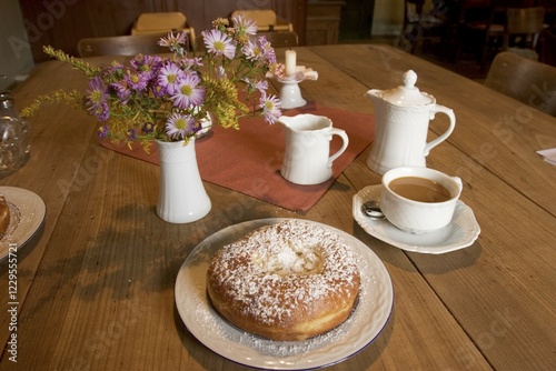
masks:
[[[157,141],[160,162],[160,190],[157,214],[170,223],[190,223],[210,211],[210,199],[202,184],[195,153],[195,138]]]

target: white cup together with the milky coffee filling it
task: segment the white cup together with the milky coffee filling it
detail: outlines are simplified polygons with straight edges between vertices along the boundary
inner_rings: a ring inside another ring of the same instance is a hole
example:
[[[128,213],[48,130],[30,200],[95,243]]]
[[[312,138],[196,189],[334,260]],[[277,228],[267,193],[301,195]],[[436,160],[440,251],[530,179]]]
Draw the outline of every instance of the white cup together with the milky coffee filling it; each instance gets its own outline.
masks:
[[[423,234],[451,221],[461,189],[461,179],[434,169],[395,168],[383,177],[380,209],[391,224]]]

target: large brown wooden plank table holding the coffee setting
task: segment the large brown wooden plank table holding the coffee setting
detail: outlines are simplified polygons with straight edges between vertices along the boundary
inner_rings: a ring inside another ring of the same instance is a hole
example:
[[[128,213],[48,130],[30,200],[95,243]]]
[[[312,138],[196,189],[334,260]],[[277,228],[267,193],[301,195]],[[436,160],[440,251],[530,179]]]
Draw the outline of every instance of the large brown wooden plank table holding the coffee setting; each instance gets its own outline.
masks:
[[[366,166],[369,148],[306,213],[206,183],[209,215],[169,224],[153,210],[158,168],[100,148],[90,117],[51,107],[32,122],[30,162],[0,181],[31,190],[47,204],[44,227],[18,252],[17,363],[7,351],[8,264],[0,265],[3,370],[246,369],[188,332],[173,287],[183,260],[206,237],[274,217],[354,234],[391,277],[395,301],[384,331],[330,370],[554,369],[556,168],[535,151],[556,147],[556,119],[388,46],[297,50],[298,63],[319,72],[317,82],[301,83],[308,100],[373,113],[364,93],[394,88],[413,69],[421,91],[454,109],[456,130],[431,151],[428,166],[464,179],[461,200],[480,224],[478,240],[431,255],[367,234],[351,217],[351,199],[380,182]],[[23,107],[39,93],[86,83],[67,66],[47,62],[16,98]],[[430,138],[444,120],[431,123]]]

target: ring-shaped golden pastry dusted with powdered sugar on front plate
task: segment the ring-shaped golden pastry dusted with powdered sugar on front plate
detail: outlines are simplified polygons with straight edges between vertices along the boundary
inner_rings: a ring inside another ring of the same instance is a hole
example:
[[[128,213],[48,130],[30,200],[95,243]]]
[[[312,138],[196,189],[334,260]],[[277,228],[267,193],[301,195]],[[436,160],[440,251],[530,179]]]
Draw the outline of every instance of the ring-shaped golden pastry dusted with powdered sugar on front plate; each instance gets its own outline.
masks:
[[[359,292],[354,252],[336,233],[301,220],[259,228],[211,258],[212,307],[270,340],[305,340],[349,318]]]

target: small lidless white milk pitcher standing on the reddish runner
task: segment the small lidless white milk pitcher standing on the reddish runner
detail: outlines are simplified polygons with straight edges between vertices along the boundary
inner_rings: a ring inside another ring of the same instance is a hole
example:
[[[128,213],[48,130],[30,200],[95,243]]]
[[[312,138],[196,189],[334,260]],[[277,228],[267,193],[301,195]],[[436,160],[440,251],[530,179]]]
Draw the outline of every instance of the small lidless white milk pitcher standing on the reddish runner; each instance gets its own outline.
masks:
[[[346,150],[349,139],[324,116],[297,114],[278,120],[286,133],[286,153],[281,176],[296,184],[320,184],[332,177],[332,162]],[[332,136],[342,140],[341,148],[330,154]]]

